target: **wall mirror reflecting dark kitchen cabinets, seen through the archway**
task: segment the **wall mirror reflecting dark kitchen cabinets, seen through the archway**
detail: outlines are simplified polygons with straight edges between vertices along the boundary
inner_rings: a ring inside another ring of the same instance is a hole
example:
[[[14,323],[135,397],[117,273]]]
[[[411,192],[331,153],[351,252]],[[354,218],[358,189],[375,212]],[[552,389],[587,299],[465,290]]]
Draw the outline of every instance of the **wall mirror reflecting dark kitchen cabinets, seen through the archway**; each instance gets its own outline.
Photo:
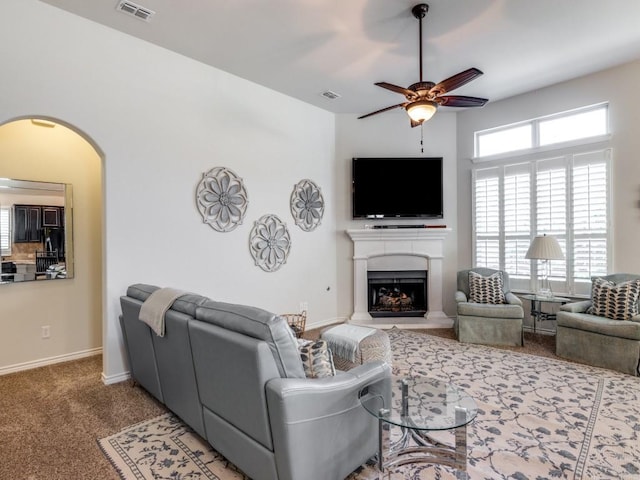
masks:
[[[0,178],[0,284],[73,278],[72,187]]]

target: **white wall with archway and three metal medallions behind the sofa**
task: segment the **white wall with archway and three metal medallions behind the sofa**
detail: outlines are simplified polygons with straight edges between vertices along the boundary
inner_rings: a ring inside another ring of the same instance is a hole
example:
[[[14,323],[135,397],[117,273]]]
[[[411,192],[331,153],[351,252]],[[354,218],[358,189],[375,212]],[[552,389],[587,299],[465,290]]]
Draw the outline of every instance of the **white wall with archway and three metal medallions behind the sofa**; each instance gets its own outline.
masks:
[[[37,0],[4,0],[1,10],[0,43],[11,48],[0,53],[0,123],[62,119],[104,153],[107,381],[126,370],[117,318],[132,283],[275,312],[304,300],[311,324],[337,316],[332,114]],[[230,233],[203,224],[195,206],[196,185],[215,166],[233,169],[249,193],[244,224]],[[327,203],[313,232],[289,211],[303,178]],[[267,213],[292,238],[275,273],[254,266],[248,248]]]

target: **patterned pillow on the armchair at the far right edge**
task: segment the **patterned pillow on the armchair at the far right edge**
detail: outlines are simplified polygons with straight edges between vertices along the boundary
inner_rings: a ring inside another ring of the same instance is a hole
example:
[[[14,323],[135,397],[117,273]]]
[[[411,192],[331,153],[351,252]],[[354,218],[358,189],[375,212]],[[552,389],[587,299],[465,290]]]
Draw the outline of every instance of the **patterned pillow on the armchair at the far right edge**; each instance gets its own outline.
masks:
[[[613,320],[629,320],[638,314],[640,280],[615,284],[594,278],[591,284],[591,307],[587,313]]]

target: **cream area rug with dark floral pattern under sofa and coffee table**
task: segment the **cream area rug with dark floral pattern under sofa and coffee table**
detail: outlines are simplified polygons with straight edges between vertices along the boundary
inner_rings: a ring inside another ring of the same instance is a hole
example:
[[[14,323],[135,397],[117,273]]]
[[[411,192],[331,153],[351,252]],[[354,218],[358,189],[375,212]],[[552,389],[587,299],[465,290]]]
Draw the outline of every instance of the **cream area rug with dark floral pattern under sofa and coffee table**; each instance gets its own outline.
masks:
[[[640,479],[639,378],[407,330],[388,333],[395,374],[455,383],[478,404],[468,427],[470,480]],[[172,414],[99,444],[125,480],[247,480]],[[365,465],[348,480],[374,478]],[[391,472],[393,480],[455,478],[455,470],[430,464]]]

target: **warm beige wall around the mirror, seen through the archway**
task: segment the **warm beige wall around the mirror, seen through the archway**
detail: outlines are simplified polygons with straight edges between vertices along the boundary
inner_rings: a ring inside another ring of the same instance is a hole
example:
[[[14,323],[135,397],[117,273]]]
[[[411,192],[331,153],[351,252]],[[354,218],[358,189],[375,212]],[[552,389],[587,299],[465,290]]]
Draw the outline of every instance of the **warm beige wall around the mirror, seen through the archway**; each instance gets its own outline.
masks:
[[[73,279],[0,285],[0,371],[102,346],[100,168],[93,147],[62,125],[43,128],[19,120],[0,126],[0,177],[72,184],[75,227]],[[28,198],[44,205],[60,201]],[[48,339],[41,338],[45,325]]]

